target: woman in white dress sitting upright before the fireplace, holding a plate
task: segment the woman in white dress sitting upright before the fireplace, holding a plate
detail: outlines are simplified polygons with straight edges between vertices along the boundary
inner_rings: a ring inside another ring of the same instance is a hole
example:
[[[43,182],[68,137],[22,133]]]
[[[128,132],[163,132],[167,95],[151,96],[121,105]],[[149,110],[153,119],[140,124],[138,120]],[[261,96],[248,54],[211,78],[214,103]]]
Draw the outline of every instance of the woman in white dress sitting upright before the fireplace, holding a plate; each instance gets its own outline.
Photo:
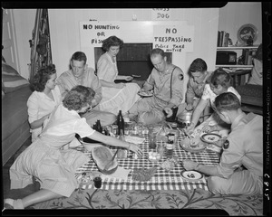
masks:
[[[132,105],[140,99],[137,92],[140,87],[136,83],[115,83],[114,80],[127,80],[131,76],[118,75],[116,55],[120,51],[123,42],[116,36],[111,36],[104,40],[102,54],[97,62],[97,76],[102,83],[102,101],[100,109],[117,114],[119,110],[126,113]]]

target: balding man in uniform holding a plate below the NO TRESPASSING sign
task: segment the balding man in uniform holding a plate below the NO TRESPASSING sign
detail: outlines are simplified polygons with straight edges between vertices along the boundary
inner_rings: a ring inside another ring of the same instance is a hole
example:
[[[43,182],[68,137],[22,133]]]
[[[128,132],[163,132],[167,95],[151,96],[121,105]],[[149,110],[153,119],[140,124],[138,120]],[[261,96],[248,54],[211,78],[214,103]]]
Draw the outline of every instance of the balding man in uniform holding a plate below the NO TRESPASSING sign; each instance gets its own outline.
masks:
[[[183,71],[167,62],[161,49],[153,49],[150,56],[154,68],[141,91],[153,90],[154,95],[138,100],[128,114],[129,118],[138,117],[138,121],[143,124],[164,120],[164,112],[169,114],[172,108],[178,107],[183,96]]]

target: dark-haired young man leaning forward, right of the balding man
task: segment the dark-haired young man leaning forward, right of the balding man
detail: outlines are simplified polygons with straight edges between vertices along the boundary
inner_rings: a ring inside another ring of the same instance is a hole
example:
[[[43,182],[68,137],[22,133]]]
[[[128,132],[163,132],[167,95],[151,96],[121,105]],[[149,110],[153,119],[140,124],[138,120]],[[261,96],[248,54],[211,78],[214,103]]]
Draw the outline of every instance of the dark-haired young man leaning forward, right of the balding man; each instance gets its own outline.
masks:
[[[212,71],[207,71],[207,63],[197,58],[189,66],[189,82],[186,91],[186,103],[180,105],[179,113],[184,109],[190,111],[197,107],[199,99],[201,99],[205,84],[209,81]],[[203,111],[203,115],[210,114],[210,105],[207,105]],[[203,120],[205,120],[204,118]]]

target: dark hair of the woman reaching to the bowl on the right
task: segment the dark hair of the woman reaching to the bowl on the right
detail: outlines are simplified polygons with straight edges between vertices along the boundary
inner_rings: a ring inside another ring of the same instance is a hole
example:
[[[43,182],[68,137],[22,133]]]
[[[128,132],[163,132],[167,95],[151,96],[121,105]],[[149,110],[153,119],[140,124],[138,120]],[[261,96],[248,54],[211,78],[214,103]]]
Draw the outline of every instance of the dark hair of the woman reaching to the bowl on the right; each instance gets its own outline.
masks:
[[[228,89],[231,86],[231,77],[227,71],[219,68],[212,73],[210,83],[216,88],[221,85],[222,87]]]

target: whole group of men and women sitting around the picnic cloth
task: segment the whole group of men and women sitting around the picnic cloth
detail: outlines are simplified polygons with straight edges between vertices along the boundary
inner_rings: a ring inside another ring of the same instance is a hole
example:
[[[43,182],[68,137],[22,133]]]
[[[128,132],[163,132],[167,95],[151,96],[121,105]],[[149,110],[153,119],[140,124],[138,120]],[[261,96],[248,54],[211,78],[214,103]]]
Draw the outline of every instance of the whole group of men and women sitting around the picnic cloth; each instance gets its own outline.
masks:
[[[188,127],[191,137],[219,131],[227,137],[228,146],[223,148],[219,165],[184,160],[184,168],[209,175],[212,193],[262,193],[263,118],[241,110],[241,97],[231,86],[228,72],[209,72],[206,62],[198,58],[190,64],[189,82],[185,84],[180,67],[168,62],[161,49],[153,49],[150,57],[154,67],[140,87],[130,82],[131,76],[118,73],[116,55],[122,45],[116,36],[104,40],[105,52],[97,62],[97,71],[88,67],[83,52],[73,53],[69,71],[58,78],[53,64],[37,71],[32,83],[34,92],[27,101],[32,144],[15,159],[10,178],[11,189],[32,184],[33,176],[41,188],[24,198],[5,199],[5,208],[24,209],[73,193],[77,188],[76,169],[90,160],[72,148],[80,145],[76,134],[142,156],[139,146],[92,129],[98,119],[102,126],[113,124],[119,110],[145,125],[165,121],[175,109],[193,110]],[[181,103],[184,85],[188,86],[186,102]],[[152,91],[153,95],[141,98],[139,91]],[[210,112],[209,118],[199,124],[201,114]]]

